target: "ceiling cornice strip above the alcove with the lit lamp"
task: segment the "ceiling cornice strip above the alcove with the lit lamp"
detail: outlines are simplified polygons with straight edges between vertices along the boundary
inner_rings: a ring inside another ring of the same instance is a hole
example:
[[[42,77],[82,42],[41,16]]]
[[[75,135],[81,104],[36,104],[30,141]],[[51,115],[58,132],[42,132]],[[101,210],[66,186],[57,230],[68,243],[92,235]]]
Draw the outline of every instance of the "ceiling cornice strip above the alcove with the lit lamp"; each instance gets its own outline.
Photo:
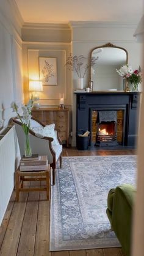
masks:
[[[68,23],[24,23],[23,29],[71,30]]]

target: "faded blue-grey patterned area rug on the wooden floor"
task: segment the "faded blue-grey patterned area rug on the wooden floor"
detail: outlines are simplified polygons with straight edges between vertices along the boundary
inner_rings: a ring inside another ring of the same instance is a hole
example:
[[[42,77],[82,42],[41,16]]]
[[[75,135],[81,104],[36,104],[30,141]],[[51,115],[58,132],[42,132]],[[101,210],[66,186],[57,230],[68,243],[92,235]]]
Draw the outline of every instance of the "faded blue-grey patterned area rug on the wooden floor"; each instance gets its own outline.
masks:
[[[63,157],[51,186],[50,251],[120,246],[107,219],[109,189],[135,185],[136,156]]]

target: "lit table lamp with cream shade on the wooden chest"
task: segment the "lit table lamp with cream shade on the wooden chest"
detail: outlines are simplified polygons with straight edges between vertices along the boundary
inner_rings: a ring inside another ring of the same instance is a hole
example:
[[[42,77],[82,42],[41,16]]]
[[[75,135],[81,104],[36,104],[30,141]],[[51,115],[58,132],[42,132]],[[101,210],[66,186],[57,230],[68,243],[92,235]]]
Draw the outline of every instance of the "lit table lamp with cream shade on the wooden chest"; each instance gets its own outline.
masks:
[[[40,98],[37,92],[43,91],[43,83],[41,81],[29,81],[29,91],[34,92],[33,108],[40,108]]]

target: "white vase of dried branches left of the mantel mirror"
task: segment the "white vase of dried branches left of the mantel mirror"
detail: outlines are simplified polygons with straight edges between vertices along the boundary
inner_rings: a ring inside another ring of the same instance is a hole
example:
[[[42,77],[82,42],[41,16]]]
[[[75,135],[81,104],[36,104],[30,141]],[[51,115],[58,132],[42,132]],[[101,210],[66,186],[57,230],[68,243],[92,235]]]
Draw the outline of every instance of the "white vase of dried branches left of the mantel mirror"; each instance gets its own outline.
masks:
[[[79,55],[79,56],[72,56],[72,54],[70,53],[70,56],[68,56],[67,61],[66,61],[66,66],[68,68],[68,70],[73,70],[74,72],[76,72],[77,76],[78,76],[78,87],[79,89],[83,89],[83,80],[85,77],[85,74],[87,73],[88,69],[90,67],[93,67],[94,65],[96,65],[96,60],[98,59],[98,57],[93,57],[90,64],[85,64],[85,60],[87,58],[84,57],[83,55]]]

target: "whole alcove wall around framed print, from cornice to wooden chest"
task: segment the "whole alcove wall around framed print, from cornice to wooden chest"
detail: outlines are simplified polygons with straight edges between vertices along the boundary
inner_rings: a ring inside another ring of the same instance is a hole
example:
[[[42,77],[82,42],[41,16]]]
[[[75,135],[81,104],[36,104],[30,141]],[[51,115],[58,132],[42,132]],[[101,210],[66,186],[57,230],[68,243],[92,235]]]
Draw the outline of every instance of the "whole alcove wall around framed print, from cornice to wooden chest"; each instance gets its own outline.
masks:
[[[23,70],[26,101],[30,97],[29,80],[39,78],[39,57],[57,58],[57,85],[43,86],[40,96],[41,106],[60,104],[60,95],[64,95],[64,104],[71,106],[71,73],[65,67],[68,54],[71,53],[71,30],[68,24],[24,24]]]

